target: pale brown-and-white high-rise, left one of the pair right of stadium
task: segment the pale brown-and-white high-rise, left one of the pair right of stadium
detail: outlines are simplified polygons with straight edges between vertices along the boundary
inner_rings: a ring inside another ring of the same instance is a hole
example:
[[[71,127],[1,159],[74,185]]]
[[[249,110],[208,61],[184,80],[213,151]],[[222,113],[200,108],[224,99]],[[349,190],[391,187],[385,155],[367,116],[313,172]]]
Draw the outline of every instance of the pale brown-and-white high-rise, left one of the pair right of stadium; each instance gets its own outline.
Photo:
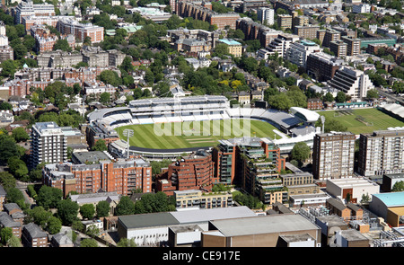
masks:
[[[354,174],[356,137],[350,132],[317,134],[312,149],[316,180],[351,178]]]

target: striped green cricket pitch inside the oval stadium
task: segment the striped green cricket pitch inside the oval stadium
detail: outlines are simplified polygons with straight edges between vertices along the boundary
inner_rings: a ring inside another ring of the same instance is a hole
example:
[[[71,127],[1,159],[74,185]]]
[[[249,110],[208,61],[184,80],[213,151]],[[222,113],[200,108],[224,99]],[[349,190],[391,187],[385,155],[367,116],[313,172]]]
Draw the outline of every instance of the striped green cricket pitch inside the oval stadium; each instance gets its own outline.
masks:
[[[120,138],[127,140],[123,130],[133,129],[134,136],[129,138],[130,146],[153,149],[215,146],[218,140],[243,136],[280,138],[273,131],[276,128],[268,122],[252,119],[248,121],[250,121],[250,129],[246,123],[245,130],[242,130],[244,128],[242,119],[128,125],[116,130]],[[165,132],[161,133],[161,129],[165,129]]]

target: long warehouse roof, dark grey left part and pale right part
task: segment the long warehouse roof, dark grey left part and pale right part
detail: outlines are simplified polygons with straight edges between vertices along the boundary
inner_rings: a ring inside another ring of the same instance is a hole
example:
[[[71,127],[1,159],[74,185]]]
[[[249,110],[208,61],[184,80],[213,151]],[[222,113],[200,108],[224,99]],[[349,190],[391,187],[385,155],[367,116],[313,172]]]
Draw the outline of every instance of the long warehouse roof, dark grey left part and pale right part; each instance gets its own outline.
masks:
[[[137,229],[154,226],[183,225],[203,223],[210,220],[257,217],[247,207],[213,208],[213,209],[190,209],[164,213],[151,213],[143,215],[119,216],[119,222],[127,229]]]

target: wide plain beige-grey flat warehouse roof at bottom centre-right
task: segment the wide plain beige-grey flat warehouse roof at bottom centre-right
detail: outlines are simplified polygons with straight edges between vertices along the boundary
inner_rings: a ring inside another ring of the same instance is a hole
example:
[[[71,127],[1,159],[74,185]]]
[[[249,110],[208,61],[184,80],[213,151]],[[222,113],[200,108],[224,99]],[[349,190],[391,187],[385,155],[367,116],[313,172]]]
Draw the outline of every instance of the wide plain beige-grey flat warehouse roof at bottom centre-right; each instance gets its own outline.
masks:
[[[269,215],[211,221],[224,236],[269,234],[320,229],[301,215]]]

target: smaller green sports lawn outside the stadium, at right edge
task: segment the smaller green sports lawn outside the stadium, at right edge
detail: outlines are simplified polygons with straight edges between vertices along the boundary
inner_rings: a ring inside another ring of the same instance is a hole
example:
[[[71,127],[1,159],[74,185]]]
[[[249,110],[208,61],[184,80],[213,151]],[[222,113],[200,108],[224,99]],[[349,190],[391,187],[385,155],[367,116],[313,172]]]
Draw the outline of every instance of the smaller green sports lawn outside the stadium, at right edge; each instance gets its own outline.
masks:
[[[327,119],[338,119],[347,130],[358,135],[372,133],[375,130],[384,130],[389,127],[403,127],[404,122],[394,119],[390,115],[376,109],[357,110],[327,110],[317,111]],[[358,119],[362,119],[360,121]]]

